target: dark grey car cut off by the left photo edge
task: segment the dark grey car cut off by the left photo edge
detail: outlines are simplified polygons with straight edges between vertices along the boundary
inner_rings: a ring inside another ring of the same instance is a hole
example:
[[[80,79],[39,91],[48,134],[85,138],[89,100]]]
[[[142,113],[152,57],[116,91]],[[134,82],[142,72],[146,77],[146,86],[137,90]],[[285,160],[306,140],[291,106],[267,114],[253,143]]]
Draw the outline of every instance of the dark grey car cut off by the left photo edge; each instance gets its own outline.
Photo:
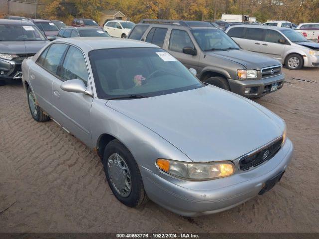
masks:
[[[35,55],[47,43],[32,22],[0,19],[0,85],[5,80],[21,79],[23,59]]]

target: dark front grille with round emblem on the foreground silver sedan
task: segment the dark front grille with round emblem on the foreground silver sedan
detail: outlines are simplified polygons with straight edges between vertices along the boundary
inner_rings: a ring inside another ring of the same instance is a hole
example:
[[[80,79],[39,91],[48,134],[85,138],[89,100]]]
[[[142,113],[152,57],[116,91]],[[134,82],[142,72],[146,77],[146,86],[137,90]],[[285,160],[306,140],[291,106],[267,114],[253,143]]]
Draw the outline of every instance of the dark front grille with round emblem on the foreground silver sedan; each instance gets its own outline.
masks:
[[[261,150],[257,150],[252,154],[243,156],[241,159],[239,159],[239,169],[247,170],[251,167],[255,167],[265,162],[266,160],[271,159],[280,149],[282,142],[283,138],[280,138],[279,140],[275,141],[274,143],[268,145],[265,148],[262,148]]]

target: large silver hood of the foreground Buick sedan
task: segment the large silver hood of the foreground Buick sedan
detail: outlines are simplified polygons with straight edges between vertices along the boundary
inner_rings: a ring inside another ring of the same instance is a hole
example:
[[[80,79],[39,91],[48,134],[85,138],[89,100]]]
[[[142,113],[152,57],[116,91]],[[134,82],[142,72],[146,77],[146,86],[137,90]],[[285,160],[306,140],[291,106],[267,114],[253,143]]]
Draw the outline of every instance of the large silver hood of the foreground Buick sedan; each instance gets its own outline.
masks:
[[[194,162],[234,160],[284,130],[283,120],[266,108],[214,86],[109,100],[106,106],[154,131]]]

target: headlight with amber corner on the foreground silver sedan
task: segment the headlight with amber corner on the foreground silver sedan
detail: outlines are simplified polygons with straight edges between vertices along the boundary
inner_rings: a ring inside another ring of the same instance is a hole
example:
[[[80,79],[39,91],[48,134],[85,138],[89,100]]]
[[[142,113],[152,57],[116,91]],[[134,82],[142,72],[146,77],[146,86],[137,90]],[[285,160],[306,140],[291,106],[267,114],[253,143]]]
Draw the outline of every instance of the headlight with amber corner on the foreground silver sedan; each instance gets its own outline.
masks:
[[[232,162],[189,163],[159,158],[156,164],[166,173],[189,180],[222,178],[235,172]]]

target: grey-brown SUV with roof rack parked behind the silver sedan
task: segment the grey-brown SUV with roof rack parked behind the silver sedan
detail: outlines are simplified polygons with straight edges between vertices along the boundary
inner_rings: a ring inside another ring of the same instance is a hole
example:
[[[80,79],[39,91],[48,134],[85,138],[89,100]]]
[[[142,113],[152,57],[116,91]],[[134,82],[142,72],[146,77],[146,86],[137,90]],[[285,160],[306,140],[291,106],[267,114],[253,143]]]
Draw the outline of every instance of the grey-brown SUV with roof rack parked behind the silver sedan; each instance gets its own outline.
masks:
[[[245,97],[261,97],[284,84],[279,61],[241,49],[208,22],[142,20],[128,38],[162,47],[195,69],[201,81]]]

